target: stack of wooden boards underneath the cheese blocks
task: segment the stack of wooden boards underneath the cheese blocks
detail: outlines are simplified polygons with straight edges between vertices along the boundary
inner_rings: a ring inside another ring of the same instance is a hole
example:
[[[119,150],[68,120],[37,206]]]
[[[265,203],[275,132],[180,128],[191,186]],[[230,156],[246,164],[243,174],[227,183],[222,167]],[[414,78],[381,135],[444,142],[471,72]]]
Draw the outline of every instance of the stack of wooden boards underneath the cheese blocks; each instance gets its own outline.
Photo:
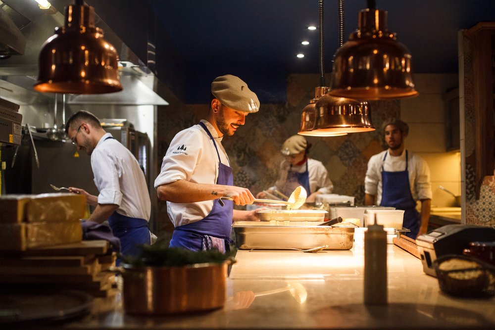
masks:
[[[0,257],[0,289],[5,292],[81,290],[95,297],[111,295],[116,255],[106,240],[26,250]]]

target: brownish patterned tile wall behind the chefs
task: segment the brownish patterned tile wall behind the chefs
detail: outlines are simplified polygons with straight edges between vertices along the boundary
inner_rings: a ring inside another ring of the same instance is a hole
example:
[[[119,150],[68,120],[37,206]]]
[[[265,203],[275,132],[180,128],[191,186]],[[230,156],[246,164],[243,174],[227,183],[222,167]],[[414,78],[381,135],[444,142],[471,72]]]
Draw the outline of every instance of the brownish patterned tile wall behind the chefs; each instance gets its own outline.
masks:
[[[329,78],[327,81],[330,81]],[[314,97],[319,76],[309,74],[290,75],[287,78],[287,102],[261,104],[260,111],[250,114],[246,124],[223,144],[234,170],[234,184],[247,187],[254,194],[272,186],[283,155],[280,146],[290,136],[297,134],[300,112]],[[208,110],[207,104],[186,105],[178,100],[160,107],[157,111],[157,159],[161,159],[174,135],[180,130],[198,123]],[[372,101],[371,118],[380,128],[388,117],[400,117],[400,103]],[[364,203],[364,176],[368,159],[385,149],[377,131],[354,133],[344,137],[308,137],[312,144],[310,157],[320,160],[327,168],[334,184],[334,193],[355,196],[356,205]],[[172,231],[164,202],[158,202],[158,231]]]

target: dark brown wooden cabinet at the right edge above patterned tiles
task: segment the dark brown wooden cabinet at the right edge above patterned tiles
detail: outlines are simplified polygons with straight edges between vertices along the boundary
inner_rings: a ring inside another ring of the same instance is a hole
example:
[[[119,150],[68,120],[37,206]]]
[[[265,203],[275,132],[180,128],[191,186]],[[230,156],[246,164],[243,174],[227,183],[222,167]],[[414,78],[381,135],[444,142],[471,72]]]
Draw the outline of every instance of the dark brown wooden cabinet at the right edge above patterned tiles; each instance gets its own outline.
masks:
[[[493,175],[495,168],[495,22],[480,22],[463,31],[461,47],[464,170],[469,200],[479,198],[483,178]]]

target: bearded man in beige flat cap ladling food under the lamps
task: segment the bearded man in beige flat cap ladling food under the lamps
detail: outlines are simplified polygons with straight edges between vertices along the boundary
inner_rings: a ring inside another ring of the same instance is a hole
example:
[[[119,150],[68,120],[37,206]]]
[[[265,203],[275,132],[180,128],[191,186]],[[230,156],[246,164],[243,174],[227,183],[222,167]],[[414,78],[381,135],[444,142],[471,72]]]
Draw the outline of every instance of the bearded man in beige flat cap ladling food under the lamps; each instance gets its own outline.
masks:
[[[171,247],[193,251],[229,250],[232,222],[259,220],[255,210],[234,210],[234,204],[254,201],[247,188],[233,186],[232,168],[222,146],[224,136],[233,136],[250,113],[259,110],[259,100],[247,84],[232,75],[211,83],[208,115],[199,124],[173,138],[154,182],[160,200],[175,226]],[[231,197],[223,200],[220,197]]]

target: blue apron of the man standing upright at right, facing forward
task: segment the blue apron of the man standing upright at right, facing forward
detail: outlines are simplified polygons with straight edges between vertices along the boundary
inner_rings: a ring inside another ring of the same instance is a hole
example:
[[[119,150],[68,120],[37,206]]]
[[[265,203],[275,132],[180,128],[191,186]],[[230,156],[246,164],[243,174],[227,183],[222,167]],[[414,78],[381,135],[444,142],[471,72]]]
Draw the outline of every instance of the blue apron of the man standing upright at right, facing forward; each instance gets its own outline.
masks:
[[[388,153],[388,151],[385,153],[383,162],[385,162]],[[404,210],[402,227],[410,230],[406,236],[416,239],[421,219],[418,211],[416,211],[416,201],[411,194],[407,158],[406,150],[405,171],[386,172],[383,170],[382,163],[382,202],[380,206],[393,206],[398,210]]]

